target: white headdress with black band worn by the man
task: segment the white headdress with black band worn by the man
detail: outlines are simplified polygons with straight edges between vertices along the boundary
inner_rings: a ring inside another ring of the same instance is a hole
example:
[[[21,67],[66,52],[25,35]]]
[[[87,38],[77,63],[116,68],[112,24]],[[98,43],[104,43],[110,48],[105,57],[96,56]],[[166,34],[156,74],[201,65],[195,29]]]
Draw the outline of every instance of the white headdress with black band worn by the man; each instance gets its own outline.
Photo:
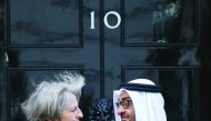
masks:
[[[167,121],[164,100],[160,88],[148,79],[135,79],[113,91],[113,107],[115,121],[121,121],[115,103],[122,90],[125,90],[132,99],[135,112],[135,121]]]

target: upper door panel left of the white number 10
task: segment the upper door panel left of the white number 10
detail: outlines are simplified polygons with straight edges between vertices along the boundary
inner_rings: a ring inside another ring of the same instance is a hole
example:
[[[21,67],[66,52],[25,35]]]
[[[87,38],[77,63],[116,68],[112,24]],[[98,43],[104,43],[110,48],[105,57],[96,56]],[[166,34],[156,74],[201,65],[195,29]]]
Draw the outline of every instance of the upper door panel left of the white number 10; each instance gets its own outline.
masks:
[[[10,0],[10,40],[14,44],[80,44],[80,0]]]

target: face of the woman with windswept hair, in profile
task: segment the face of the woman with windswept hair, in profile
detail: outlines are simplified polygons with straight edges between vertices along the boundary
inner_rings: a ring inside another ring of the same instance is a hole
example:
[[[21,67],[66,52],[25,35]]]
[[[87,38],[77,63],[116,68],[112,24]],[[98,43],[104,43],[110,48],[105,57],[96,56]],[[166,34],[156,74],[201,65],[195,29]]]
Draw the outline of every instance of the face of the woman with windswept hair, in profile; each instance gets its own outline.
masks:
[[[79,109],[76,95],[73,95],[67,107],[63,108],[61,121],[80,121],[82,117],[83,113]]]

